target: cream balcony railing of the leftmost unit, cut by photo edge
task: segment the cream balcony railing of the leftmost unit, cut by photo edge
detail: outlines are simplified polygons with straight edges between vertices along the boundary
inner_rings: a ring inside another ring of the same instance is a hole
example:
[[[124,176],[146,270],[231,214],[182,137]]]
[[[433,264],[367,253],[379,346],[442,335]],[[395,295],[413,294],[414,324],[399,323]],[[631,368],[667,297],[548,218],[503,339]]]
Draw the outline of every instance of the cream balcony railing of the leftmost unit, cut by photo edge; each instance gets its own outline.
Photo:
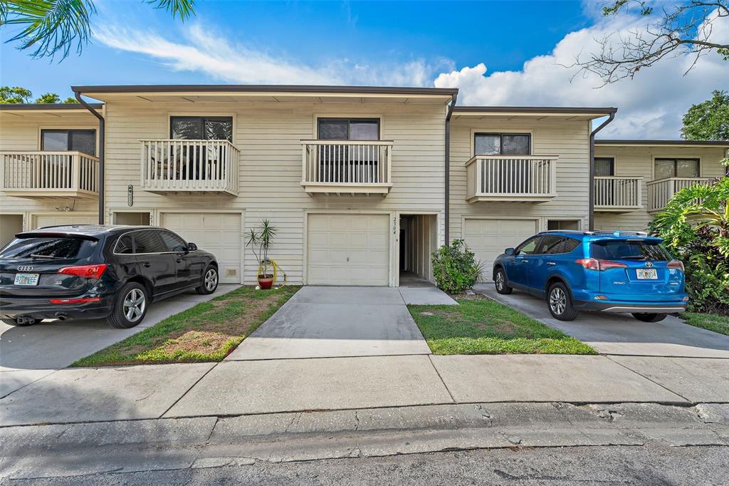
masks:
[[[0,188],[27,198],[98,198],[98,158],[82,152],[0,152]]]

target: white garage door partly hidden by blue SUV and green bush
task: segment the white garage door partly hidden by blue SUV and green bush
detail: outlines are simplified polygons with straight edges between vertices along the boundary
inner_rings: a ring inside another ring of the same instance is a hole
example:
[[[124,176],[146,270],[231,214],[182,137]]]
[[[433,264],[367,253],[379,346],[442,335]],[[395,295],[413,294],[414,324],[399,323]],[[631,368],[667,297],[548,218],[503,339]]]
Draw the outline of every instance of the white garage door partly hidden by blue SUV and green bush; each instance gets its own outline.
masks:
[[[484,279],[491,276],[491,267],[504,248],[515,247],[529,236],[537,234],[537,220],[467,219],[463,228],[466,244],[483,261]]]

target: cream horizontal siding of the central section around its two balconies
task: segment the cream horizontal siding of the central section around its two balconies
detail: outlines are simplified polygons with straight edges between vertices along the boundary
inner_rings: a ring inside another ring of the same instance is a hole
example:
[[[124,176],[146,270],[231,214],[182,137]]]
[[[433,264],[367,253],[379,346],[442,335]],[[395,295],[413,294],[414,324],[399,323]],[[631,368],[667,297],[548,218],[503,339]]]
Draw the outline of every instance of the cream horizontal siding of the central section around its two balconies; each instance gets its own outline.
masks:
[[[286,271],[289,282],[303,281],[306,211],[383,212],[389,221],[398,212],[437,212],[444,209],[445,106],[402,103],[313,103],[282,101],[164,103],[108,101],[106,103],[107,219],[114,208],[127,208],[127,185],[134,186],[134,207],[156,208],[152,224],[165,209],[245,210],[247,233],[268,218],[278,228],[270,257]],[[233,144],[240,150],[239,195],[160,196],[139,188],[139,139],[168,138],[170,115],[233,117]],[[394,140],[393,188],[383,196],[307,196],[301,186],[302,139],[316,137],[316,115],[380,117],[381,139]],[[439,218],[439,221],[443,217]],[[443,239],[443,228],[438,228]],[[394,246],[394,245],[393,245]],[[257,263],[244,254],[245,282],[256,281]],[[397,259],[391,273],[397,271]],[[390,285],[394,285],[391,279]]]

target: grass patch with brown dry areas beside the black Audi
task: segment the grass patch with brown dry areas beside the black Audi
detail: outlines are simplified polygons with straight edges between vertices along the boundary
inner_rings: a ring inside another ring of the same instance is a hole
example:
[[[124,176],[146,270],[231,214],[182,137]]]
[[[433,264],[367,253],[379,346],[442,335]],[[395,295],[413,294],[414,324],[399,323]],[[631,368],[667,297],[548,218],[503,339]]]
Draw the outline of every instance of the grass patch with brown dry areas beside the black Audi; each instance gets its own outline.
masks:
[[[129,336],[71,366],[117,366],[220,361],[233,351],[298,287],[241,287]]]

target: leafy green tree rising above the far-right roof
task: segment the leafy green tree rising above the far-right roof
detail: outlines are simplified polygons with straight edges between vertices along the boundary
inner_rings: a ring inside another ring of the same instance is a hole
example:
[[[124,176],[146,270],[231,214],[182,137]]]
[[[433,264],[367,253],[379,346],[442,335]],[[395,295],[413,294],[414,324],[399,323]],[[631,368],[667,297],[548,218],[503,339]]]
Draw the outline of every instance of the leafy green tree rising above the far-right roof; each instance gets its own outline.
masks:
[[[729,92],[714,90],[712,98],[692,105],[683,119],[687,140],[729,140]]]

